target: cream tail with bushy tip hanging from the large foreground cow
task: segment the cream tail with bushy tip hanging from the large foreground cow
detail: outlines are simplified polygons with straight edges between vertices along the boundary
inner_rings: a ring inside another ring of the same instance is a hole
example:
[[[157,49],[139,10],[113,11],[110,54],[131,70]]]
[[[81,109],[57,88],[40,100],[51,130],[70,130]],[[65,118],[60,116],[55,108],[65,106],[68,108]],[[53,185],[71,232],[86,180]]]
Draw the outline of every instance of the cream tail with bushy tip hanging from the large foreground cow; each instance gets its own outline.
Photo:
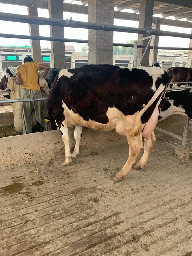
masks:
[[[140,112],[137,114],[135,118],[135,124],[134,126],[127,131],[127,135],[130,137],[135,137],[142,133],[143,123],[141,122],[141,116],[145,113],[145,111],[154,103],[154,101],[157,99],[159,95],[162,94],[164,89],[166,88],[166,85],[161,83],[156,92],[154,93],[153,97],[149,100],[147,105],[140,110]]]

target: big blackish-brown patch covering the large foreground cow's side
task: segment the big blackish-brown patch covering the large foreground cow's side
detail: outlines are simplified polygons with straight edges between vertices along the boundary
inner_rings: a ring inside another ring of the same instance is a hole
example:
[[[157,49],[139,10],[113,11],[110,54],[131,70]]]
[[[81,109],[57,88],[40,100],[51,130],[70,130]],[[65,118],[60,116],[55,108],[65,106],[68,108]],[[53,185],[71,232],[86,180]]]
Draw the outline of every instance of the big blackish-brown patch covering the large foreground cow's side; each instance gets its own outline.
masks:
[[[143,104],[146,105],[154,95],[151,89],[152,76],[144,69],[121,69],[111,65],[84,67],[79,68],[79,72],[74,69],[74,75],[70,78],[61,76],[52,87],[47,100],[47,108],[55,116],[58,125],[65,119],[62,101],[84,120],[107,124],[109,120],[106,113],[109,107],[116,107],[124,115],[133,115],[140,111]],[[161,83],[162,79],[157,79],[156,88]],[[155,103],[143,115],[143,120],[149,119]],[[60,111],[61,108],[62,111]]]

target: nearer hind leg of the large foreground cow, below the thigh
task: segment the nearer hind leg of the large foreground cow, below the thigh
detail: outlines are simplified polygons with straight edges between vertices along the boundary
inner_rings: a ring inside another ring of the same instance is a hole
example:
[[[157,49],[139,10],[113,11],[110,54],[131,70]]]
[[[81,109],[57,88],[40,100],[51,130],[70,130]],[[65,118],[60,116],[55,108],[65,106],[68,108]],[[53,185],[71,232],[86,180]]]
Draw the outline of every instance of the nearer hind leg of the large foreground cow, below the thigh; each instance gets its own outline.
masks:
[[[113,177],[114,181],[121,181],[123,177],[128,174],[141,150],[143,149],[141,134],[133,138],[127,137],[127,140],[129,143],[129,158],[126,164],[123,166],[122,170],[118,172],[115,177]]]

